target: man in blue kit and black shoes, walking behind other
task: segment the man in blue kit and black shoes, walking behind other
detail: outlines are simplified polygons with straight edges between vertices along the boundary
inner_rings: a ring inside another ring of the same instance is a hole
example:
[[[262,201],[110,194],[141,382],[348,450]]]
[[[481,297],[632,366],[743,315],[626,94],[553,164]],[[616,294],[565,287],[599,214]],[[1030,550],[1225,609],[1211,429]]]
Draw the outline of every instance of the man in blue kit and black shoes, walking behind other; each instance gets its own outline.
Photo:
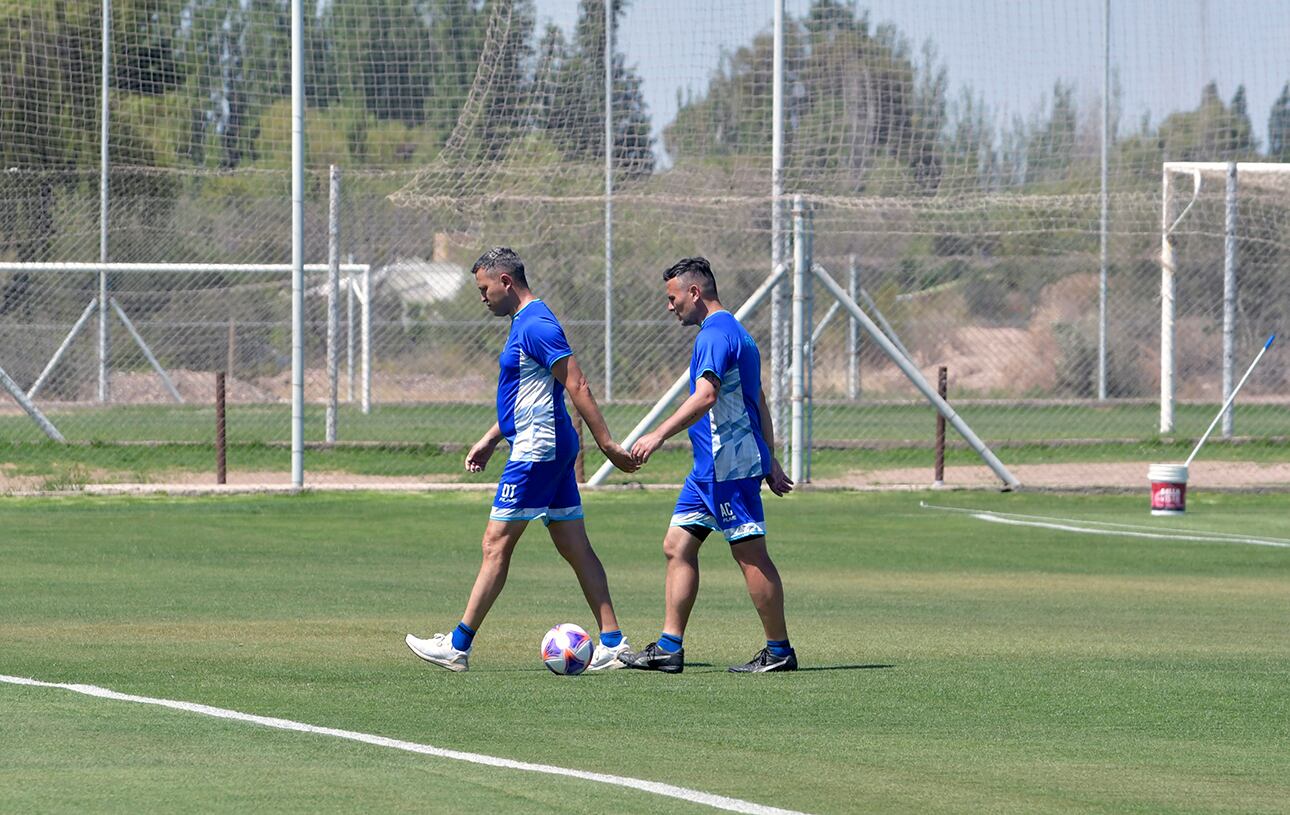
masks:
[[[797,654],[784,623],[784,587],[766,552],[761,481],[784,495],[793,482],[773,455],[774,428],[761,389],[757,343],[717,299],[712,267],[685,258],[663,272],[667,308],[681,325],[699,326],[690,358],[690,397],[653,432],[641,436],[632,455],[644,464],[663,442],[689,428],[694,469],[681,486],[672,524],[663,538],[667,557],[663,633],[641,651],[619,660],[628,668],[680,673],[682,637],[699,592],[699,547],[719,531],[743,570],[752,605],[761,616],[766,647],[734,673],[796,671]]]

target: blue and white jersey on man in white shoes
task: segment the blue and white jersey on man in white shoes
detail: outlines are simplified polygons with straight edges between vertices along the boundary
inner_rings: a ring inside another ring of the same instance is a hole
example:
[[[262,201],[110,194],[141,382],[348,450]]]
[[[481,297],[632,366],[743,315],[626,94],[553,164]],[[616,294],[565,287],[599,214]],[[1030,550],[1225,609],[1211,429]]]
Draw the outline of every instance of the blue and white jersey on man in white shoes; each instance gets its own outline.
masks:
[[[560,321],[542,300],[530,300],[511,320],[498,358],[497,423],[511,445],[512,462],[555,462],[578,451],[564,404],[564,386],[551,366],[570,356]]]

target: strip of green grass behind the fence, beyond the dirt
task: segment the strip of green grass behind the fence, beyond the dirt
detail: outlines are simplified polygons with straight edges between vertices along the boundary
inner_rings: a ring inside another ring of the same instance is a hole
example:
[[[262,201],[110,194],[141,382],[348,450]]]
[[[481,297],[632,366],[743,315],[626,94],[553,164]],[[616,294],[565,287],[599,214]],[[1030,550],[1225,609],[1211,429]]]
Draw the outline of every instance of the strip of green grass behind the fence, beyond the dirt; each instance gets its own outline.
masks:
[[[1162,440],[1155,432],[1157,409],[1151,405],[1010,406],[970,405],[962,414],[1009,464],[1062,462],[1157,462],[1186,458],[1205,431],[1215,406],[1180,405],[1178,435]],[[610,429],[623,438],[645,414],[641,405],[611,405],[605,414]],[[165,482],[174,472],[213,472],[214,413],[197,406],[114,406],[50,413],[70,446],[44,440],[26,415],[0,415],[0,475],[35,476],[49,489],[88,482]],[[306,451],[306,469],[360,476],[435,477],[484,482],[494,476],[462,471],[462,450],[491,422],[488,405],[378,405],[364,417],[344,408],[339,415],[342,445]],[[306,438],[322,438],[324,414],[306,411]],[[930,408],[898,405],[822,405],[817,409],[815,478],[841,477],[853,469],[931,466],[934,414]],[[779,428],[780,436],[788,428]],[[1290,424],[1285,408],[1242,408],[1237,432],[1262,438],[1226,444],[1213,438],[1206,455],[1231,462],[1278,462],[1290,458]],[[290,469],[283,445],[290,438],[286,405],[233,405],[228,411],[228,467],[237,472]],[[1064,446],[1064,440],[1094,441]],[[957,436],[951,431],[951,442]],[[141,444],[148,442],[148,444]],[[155,442],[155,444],[154,444]],[[837,449],[860,442],[868,449]],[[1058,444],[1054,444],[1058,442]],[[445,445],[449,447],[445,451]],[[829,446],[832,445],[832,447]],[[588,473],[604,458],[587,438]],[[975,464],[966,449],[951,449],[947,463]],[[649,468],[614,482],[673,484],[689,468],[688,454],[672,445]],[[40,486],[40,485],[37,485]]]

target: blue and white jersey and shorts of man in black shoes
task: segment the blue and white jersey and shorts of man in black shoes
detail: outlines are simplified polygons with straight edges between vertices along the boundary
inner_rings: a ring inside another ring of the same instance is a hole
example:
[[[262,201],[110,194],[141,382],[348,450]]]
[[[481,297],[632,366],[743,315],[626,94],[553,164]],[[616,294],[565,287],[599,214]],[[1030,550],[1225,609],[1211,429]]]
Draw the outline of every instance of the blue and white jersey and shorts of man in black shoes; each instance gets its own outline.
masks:
[[[720,380],[717,401],[690,426],[694,468],[681,487],[672,526],[720,531],[735,543],[766,534],[761,480],[770,449],[761,431],[761,353],[728,311],[699,326],[690,358],[690,393],[706,374]]]

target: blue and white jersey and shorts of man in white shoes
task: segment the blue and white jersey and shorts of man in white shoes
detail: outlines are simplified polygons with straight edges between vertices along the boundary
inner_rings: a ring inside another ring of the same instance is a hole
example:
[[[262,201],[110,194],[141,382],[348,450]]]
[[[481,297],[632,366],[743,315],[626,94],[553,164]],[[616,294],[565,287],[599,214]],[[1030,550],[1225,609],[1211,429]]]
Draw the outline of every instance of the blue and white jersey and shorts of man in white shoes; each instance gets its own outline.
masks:
[[[560,321],[534,299],[511,319],[498,357],[497,423],[511,457],[497,485],[495,521],[571,521],[582,517],[574,475],[578,433],[551,368],[573,355]]]

